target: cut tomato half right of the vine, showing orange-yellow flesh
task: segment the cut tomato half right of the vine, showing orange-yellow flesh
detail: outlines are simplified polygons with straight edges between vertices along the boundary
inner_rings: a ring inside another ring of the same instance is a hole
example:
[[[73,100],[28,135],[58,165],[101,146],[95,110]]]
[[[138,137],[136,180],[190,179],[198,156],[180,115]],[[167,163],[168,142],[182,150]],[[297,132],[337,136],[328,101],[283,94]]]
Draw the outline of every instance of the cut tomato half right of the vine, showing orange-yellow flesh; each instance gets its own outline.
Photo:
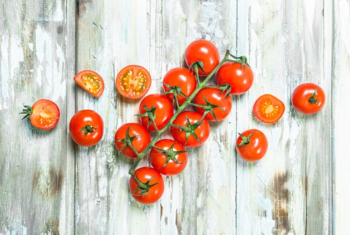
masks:
[[[283,115],[284,103],[272,94],[263,94],[256,99],[253,112],[260,121],[273,123]]]

